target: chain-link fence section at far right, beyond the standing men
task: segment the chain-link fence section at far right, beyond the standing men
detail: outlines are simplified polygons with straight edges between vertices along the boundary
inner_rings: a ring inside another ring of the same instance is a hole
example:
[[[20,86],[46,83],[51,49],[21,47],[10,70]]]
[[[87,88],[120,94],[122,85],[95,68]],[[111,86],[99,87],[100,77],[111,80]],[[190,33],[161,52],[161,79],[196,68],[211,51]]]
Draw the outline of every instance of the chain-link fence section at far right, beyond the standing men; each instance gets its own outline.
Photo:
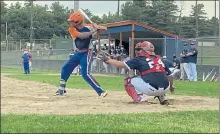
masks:
[[[217,81],[219,79],[219,39],[218,38],[197,38],[198,77],[203,81]]]

